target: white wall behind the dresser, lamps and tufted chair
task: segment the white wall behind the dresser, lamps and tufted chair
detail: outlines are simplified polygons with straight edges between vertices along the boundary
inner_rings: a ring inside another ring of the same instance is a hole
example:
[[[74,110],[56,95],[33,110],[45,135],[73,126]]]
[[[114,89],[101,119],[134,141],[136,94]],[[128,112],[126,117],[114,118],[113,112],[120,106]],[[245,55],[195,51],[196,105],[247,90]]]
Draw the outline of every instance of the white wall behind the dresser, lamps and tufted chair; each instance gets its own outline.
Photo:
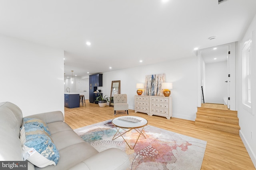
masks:
[[[128,95],[129,109],[134,109],[136,83],[144,83],[145,76],[166,74],[166,82],[173,83],[171,96],[173,117],[195,120],[197,111],[197,57],[178,59],[147,66],[103,73],[103,95],[110,96],[111,82],[121,80],[121,93]]]

